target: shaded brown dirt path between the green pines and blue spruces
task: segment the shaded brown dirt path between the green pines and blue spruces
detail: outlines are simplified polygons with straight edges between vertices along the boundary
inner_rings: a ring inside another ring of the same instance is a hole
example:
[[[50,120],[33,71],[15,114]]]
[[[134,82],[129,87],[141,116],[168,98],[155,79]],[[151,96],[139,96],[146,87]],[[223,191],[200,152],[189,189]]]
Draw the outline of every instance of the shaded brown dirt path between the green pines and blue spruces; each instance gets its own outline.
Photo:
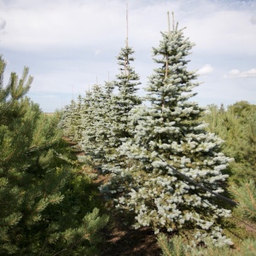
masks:
[[[75,146],[69,138],[63,137],[70,147]],[[74,150],[74,154],[83,154],[80,150]],[[97,173],[90,167],[84,166],[83,172],[91,175],[97,175],[93,183],[100,186],[108,181],[108,176]],[[107,209],[110,217],[109,223],[102,230],[102,247],[100,256],[159,256],[161,251],[157,245],[154,231],[148,227],[139,230],[131,229],[125,225],[127,216],[121,215],[115,211],[113,204],[105,201],[102,195],[99,196]]]

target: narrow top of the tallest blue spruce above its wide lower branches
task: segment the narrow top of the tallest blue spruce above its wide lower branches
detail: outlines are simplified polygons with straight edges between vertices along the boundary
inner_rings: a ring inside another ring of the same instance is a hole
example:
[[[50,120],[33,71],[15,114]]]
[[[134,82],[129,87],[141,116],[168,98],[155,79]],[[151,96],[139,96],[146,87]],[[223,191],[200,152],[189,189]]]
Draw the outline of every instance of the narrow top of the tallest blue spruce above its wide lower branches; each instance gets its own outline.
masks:
[[[153,60],[160,67],[154,69],[146,90],[148,100],[155,107],[175,108],[177,102],[187,102],[195,96],[195,93],[185,95],[198,85],[193,83],[197,78],[195,72],[187,70],[189,60],[186,56],[194,44],[184,38],[183,29],[177,29],[177,26],[172,31],[161,32],[161,37],[159,46],[153,48]]]

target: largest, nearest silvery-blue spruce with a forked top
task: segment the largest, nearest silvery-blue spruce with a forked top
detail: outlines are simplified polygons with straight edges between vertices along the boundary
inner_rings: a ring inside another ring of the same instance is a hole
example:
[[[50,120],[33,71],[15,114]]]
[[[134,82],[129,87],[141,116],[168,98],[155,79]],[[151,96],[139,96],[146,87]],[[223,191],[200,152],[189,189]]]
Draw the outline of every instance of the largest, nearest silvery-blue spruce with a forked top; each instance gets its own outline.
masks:
[[[221,193],[227,177],[222,171],[230,159],[220,152],[222,140],[199,120],[204,108],[189,101],[198,85],[195,72],[187,69],[193,44],[177,26],[161,36],[159,47],[153,49],[160,67],[154,69],[147,88],[151,106],[131,111],[133,137],[119,148],[119,154],[126,156],[126,168],[105,189],[118,192],[118,208],[135,213],[136,228],[185,232],[191,246],[207,243],[206,237],[222,246],[231,241],[222,234],[218,220],[229,217],[230,211],[184,177]]]

